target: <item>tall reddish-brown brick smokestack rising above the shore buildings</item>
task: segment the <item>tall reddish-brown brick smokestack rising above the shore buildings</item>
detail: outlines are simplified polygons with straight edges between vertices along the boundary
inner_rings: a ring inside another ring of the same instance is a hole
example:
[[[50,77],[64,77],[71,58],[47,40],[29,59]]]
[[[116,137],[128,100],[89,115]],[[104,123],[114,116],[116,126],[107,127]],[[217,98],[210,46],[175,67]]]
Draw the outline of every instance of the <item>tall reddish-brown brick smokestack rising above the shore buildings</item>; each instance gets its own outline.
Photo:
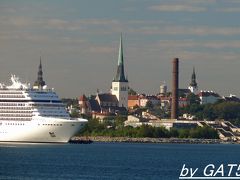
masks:
[[[178,118],[178,58],[174,58],[172,72],[172,108],[171,119]]]

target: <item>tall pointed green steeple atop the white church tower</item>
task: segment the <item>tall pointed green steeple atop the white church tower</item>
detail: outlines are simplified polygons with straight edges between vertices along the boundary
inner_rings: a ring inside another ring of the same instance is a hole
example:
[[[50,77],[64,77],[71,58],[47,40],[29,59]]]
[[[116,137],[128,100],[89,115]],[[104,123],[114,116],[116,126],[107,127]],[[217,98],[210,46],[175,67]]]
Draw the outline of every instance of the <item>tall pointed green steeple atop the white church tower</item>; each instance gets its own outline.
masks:
[[[125,78],[124,74],[124,59],[123,59],[123,47],[122,47],[122,34],[120,36],[120,44],[119,44],[119,51],[118,51],[118,67],[117,67],[117,74],[113,79],[115,82],[128,82]]]

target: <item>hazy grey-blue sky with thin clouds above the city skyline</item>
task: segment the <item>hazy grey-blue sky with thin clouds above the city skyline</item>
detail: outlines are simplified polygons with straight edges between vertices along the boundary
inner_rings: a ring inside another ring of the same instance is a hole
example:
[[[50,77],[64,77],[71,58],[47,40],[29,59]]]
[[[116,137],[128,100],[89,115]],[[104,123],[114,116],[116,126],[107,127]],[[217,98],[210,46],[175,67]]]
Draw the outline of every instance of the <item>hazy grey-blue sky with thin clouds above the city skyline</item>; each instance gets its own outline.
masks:
[[[0,0],[0,81],[44,78],[61,97],[108,92],[123,33],[125,70],[139,93],[180,87],[195,66],[202,90],[240,95],[238,0]]]

